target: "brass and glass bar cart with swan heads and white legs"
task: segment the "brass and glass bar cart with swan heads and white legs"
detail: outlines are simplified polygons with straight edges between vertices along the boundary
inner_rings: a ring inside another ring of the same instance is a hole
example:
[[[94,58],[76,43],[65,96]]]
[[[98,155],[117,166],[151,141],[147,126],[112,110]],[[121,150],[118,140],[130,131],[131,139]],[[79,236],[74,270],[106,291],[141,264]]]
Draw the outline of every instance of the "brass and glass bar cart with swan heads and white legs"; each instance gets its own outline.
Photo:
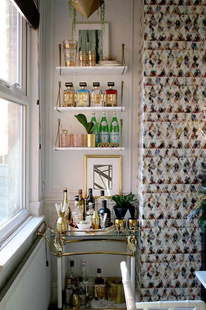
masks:
[[[135,256],[137,251],[137,237],[140,237],[140,228],[135,230],[123,230],[118,232],[116,228],[111,226],[109,230],[107,228],[103,229],[89,229],[89,230],[67,230],[67,231],[56,231],[55,225],[54,228],[48,224],[46,225],[52,232],[54,237],[54,247],[56,253],[52,252],[51,244],[48,238],[41,234],[43,228],[40,227],[36,235],[40,235],[47,239],[49,244],[49,249],[52,255],[57,256],[57,309],[62,309],[62,288],[63,283],[62,279],[65,279],[65,266],[62,264],[62,257],[67,255],[80,255],[80,254],[112,254],[112,255],[130,255],[130,275],[132,282],[133,293],[135,291]],[[84,239],[78,239],[78,237],[84,237]],[[110,239],[110,237],[117,237],[116,239]],[[69,237],[75,237],[74,240],[67,240]],[[108,238],[109,237],[109,238]],[[122,238],[123,237],[123,238]],[[125,239],[124,239],[125,237]],[[63,246],[67,243],[72,242],[86,242],[86,241],[109,241],[109,242],[126,242],[128,244],[129,252],[113,252],[113,251],[84,251],[84,252],[72,252],[72,253],[63,253]],[[63,275],[62,275],[63,269]]]

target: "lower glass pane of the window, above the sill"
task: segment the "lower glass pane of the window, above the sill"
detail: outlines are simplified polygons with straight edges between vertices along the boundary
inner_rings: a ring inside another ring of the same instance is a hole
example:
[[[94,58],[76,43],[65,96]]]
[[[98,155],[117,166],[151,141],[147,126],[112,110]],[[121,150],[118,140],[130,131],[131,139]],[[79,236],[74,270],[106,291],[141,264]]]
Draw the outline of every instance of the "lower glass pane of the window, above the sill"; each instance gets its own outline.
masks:
[[[22,209],[23,107],[0,98],[0,226]]]

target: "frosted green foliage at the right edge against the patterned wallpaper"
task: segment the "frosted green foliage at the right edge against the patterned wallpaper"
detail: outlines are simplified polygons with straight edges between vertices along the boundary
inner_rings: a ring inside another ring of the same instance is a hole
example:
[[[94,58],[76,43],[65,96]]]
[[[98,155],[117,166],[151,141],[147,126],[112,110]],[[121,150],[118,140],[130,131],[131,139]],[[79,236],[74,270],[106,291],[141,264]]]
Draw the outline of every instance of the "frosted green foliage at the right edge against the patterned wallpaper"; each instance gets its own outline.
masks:
[[[200,195],[200,201],[188,212],[187,220],[190,222],[201,214],[198,224],[202,232],[204,232],[206,230],[206,187],[202,186],[200,192],[202,193],[202,195]]]

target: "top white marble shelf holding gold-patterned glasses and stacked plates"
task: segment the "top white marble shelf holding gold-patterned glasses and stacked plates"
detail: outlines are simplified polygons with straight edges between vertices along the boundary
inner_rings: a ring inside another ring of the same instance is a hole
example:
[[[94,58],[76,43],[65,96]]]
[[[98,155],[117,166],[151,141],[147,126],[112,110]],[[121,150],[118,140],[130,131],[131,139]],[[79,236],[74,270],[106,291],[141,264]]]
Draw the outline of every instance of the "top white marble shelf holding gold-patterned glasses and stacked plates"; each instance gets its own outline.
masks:
[[[76,67],[76,74],[122,74],[124,70],[127,72],[127,66],[92,66],[92,67]],[[57,72],[60,74],[60,67],[57,67]],[[61,67],[61,75],[74,74],[74,67]]]

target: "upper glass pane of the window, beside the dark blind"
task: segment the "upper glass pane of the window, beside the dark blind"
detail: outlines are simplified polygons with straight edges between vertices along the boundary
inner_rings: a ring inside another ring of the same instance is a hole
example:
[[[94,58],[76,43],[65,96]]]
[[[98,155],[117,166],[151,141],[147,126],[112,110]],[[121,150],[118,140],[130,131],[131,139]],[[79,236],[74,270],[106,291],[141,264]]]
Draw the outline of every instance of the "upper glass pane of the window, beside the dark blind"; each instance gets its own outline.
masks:
[[[0,0],[0,78],[19,83],[19,12],[10,0]]]

